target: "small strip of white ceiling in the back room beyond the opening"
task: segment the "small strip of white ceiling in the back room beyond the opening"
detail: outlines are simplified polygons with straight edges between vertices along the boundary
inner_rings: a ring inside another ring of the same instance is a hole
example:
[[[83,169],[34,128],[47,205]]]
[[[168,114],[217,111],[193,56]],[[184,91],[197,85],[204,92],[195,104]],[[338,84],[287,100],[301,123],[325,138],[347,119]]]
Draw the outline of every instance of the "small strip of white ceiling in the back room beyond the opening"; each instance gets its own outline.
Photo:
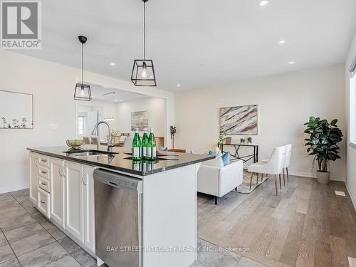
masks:
[[[119,90],[115,88],[106,88],[102,85],[96,85],[93,83],[89,83],[89,85],[94,101],[120,103],[141,98],[148,98],[147,95],[132,93],[130,91]]]

